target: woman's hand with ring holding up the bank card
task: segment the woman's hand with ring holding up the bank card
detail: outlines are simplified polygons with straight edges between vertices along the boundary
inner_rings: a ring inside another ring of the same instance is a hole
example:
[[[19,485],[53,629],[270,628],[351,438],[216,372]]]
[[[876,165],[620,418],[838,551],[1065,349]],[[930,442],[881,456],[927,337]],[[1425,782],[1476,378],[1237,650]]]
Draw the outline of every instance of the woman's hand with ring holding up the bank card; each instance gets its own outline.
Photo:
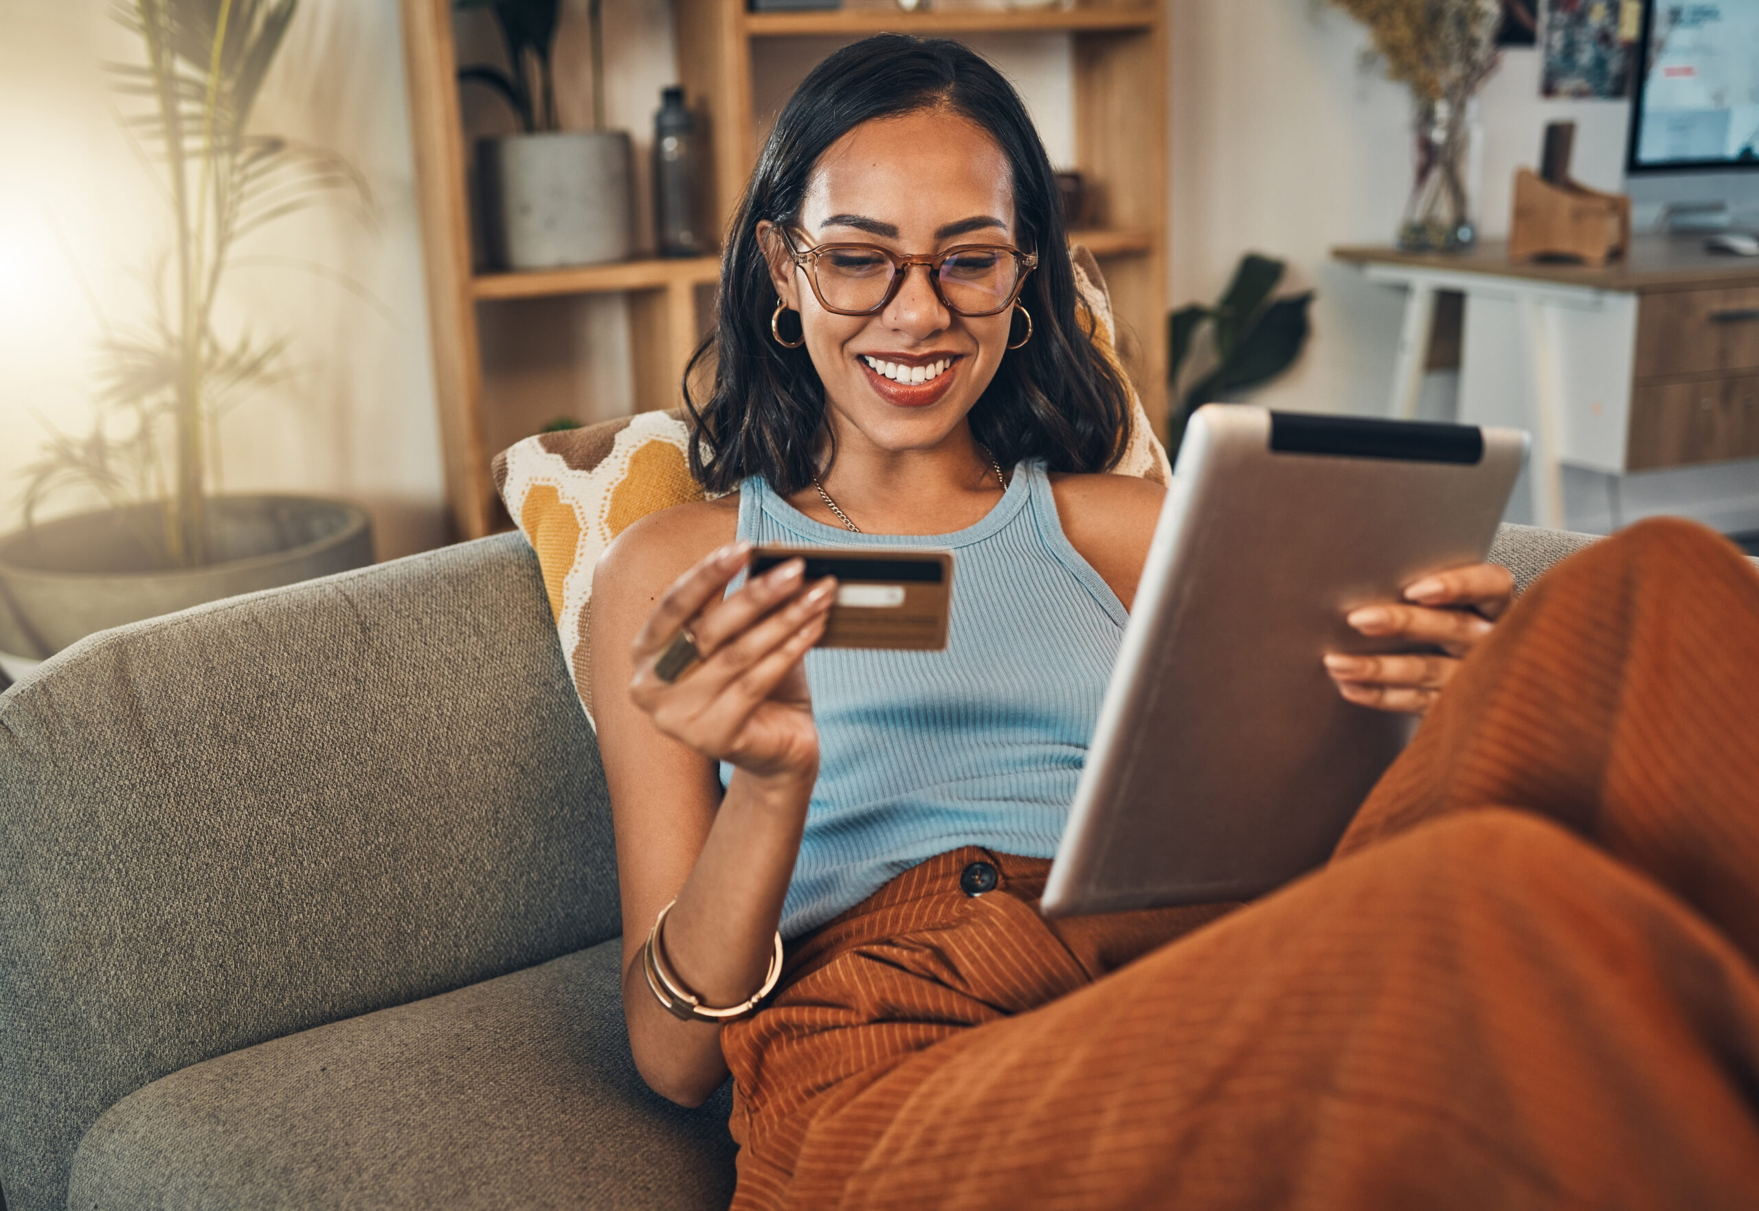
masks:
[[[635,705],[665,735],[758,777],[818,773],[818,729],[802,657],[825,633],[837,585],[804,584],[790,559],[723,599],[751,557],[749,543],[723,547],[686,571],[647,615],[630,654]],[[682,627],[700,659],[665,682],[654,661]]]

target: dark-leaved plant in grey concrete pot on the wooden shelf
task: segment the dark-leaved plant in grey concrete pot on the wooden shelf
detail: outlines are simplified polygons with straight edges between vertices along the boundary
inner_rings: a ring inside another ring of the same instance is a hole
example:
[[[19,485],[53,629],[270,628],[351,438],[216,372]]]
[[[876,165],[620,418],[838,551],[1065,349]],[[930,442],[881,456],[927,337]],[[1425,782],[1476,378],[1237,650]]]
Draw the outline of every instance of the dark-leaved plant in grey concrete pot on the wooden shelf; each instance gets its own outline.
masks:
[[[556,116],[556,26],[561,0],[454,0],[489,9],[507,69],[466,67],[461,81],[500,93],[519,134],[477,142],[482,234],[496,269],[552,269],[623,260],[633,248],[631,149],[605,130],[602,0],[588,0],[593,128],[563,130]]]

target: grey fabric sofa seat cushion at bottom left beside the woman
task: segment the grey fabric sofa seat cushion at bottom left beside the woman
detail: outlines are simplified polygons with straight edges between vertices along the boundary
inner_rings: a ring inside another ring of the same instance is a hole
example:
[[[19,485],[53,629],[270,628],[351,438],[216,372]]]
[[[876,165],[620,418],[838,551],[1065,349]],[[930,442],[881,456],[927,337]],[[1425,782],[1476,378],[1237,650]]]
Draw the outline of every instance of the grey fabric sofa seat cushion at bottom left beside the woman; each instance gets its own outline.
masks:
[[[728,1090],[630,1060],[617,940],[153,1081],[74,1158],[74,1207],[725,1207]]]

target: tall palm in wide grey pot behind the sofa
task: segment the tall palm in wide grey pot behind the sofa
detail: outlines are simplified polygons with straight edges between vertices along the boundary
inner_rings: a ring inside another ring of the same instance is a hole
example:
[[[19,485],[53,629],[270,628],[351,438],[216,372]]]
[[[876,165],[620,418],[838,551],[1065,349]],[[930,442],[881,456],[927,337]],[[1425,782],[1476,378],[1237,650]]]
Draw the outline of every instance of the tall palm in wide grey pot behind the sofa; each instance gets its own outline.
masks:
[[[102,337],[91,429],[53,434],[25,473],[25,527],[0,538],[0,650],[46,657],[74,640],[202,601],[373,559],[354,504],[216,494],[222,411],[283,376],[287,337],[215,323],[239,241],[325,195],[371,199],[332,153],[250,118],[297,0],[127,0],[144,62],[114,65],[123,121],[162,174],[169,251],[146,322]],[[83,487],[109,508],[49,522]]]

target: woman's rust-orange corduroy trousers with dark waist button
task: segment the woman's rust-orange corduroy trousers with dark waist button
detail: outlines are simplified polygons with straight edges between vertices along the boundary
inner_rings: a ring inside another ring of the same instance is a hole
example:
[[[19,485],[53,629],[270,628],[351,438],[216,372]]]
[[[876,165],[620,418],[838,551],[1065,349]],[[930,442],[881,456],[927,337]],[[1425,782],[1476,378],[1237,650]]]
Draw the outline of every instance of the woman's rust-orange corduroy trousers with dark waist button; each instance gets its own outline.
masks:
[[[792,947],[723,1030],[735,1207],[1759,1207],[1759,576],[1710,531],[1546,575],[1323,870],[1045,921],[1047,867]]]

